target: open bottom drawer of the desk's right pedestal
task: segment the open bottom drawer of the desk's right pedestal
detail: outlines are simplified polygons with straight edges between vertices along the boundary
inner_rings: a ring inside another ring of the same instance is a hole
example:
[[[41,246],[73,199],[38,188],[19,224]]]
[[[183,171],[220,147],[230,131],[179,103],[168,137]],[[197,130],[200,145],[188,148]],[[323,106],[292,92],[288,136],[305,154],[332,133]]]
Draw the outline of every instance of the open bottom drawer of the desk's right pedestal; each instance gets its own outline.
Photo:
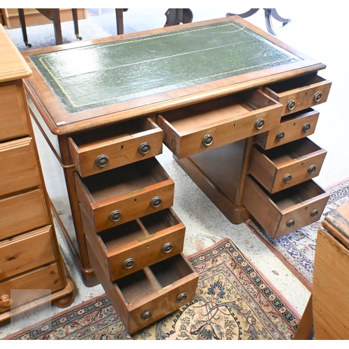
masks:
[[[313,180],[270,194],[250,174],[242,203],[265,231],[277,239],[318,221],[329,193]]]

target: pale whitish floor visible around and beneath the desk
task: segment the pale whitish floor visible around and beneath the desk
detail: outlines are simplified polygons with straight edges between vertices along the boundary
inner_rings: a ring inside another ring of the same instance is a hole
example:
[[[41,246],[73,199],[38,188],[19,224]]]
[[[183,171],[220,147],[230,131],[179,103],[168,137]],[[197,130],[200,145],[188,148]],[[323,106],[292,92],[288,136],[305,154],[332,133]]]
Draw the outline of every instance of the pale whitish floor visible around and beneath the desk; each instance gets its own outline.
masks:
[[[124,14],[125,32],[163,27],[163,24],[165,24],[165,10],[165,8],[130,8]],[[225,17],[225,13],[232,11],[242,13],[246,9],[191,8],[191,10],[193,10],[194,21],[196,22],[216,17]],[[273,20],[278,38],[290,46],[297,48],[297,50],[308,54],[310,57],[325,62],[327,68],[320,75],[333,82],[327,103],[319,105],[317,108],[320,111],[320,119],[316,132],[310,137],[313,142],[328,152],[325,163],[322,166],[322,172],[315,180],[320,186],[330,186],[349,177],[347,142],[349,122],[346,115],[346,101],[348,98],[346,96],[348,91],[346,84],[348,81],[348,68],[346,68],[346,50],[348,50],[348,43],[346,42],[348,36],[346,13],[344,11],[337,11],[335,14],[327,13],[327,8],[322,8],[321,6],[309,6],[308,9],[304,7],[299,9],[299,7],[290,8],[289,6],[283,6],[283,8],[278,8],[278,10],[281,16],[288,17],[292,20],[292,22],[284,27],[280,22]],[[99,17],[97,17],[97,10],[94,13],[95,15],[89,17],[89,21],[91,21],[89,24],[87,20],[80,21],[80,35],[84,40],[116,34],[113,10],[106,12],[103,10],[102,15]],[[102,21],[101,18],[103,18]],[[266,30],[262,10],[247,20]],[[43,27],[45,27],[45,30],[41,29],[40,35],[42,37],[39,41],[44,39],[48,41],[52,40],[52,29],[47,26]],[[68,24],[64,25],[63,30],[64,35],[68,31],[73,32],[73,29],[71,29],[71,26],[68,27]],[[20,29],[13,29],[8,31],[8,33],[20,50],[26,50],[22,43]],[[28,35],[33,45],[32,48],[35,48],[36,34],[34,34],[34,29],[29,28]],[[75,40],[75,38],[65,40]],[[38,135],[37,141],[41,161],[42,163],[47,163],[47,158],[50,157],[50,151],[45,149],[45,142],[40,139],[40,135]],[[309,299],[309,291],[304,285],[285,268],[283,263],[244,224],[233,225],[230,223],[214,207],[210,200],[207,199],[205,194],[193,184],[183,170],[179,168],[168,149],[164,147],[163,154],[158,156],[158,160],[175,182],[173,208],[186,225],[184,253],[190,255],[195,251],[211,246],[211,244],[214,244],[223,237],[230,237],[246,253],[248,258],[251,258],[256,267],[295,306],[297,311],[302,314],[306,302]],[[50,175],[45,175],[45,180],[49,191],[57,191],[57,183],[59,183],[60,179],[59,176],[57,177],[57,173],[52,171],[52,168],[50,169]],[[63,243],[62,248],[70,274],[77,285],[76,297],[72,306],[80,304],[84,300],[95,297],[96,295],[101,295],[103,293],[101,285],[94,288],[87,288],[82,284],[73,259],[70,258]],[[53,307],[52,313],[62,310]],[[16,320],[13,320],[8,325],[0,325],[0,338],[22,329],[22,327],[22,323]]]

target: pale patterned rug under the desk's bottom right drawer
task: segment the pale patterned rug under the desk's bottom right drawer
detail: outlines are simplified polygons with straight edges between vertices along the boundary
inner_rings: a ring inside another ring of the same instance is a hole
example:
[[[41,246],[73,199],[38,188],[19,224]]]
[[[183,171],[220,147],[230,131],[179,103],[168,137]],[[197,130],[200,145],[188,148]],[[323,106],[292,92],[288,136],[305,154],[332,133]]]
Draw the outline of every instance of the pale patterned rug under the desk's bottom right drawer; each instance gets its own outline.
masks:
[[[314,256],[318,228],[321,227],[321,222],[325,216],[331,214],[336,207],[343,205],[344,202],[349,202],[349,179],[327,188],[327,191],[330,193],[329,201],[320,220],[302,229],[295,230],[295,232],[284,237],[279,237],[279,239],[272,239],[256,221],[251,219],[246,221],[248,228],[283,261],[286,267],[309,290],[313,286]]]

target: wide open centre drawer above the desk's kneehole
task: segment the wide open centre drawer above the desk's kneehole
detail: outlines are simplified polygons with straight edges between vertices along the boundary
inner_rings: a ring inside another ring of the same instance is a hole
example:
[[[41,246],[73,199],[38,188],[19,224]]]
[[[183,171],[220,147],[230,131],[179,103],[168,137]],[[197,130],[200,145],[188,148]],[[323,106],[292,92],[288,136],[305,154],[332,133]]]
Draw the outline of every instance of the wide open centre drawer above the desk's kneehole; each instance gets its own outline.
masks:
[[[165,145],[186,158],[279,125],[282,105],[257,89],[157,115]]]

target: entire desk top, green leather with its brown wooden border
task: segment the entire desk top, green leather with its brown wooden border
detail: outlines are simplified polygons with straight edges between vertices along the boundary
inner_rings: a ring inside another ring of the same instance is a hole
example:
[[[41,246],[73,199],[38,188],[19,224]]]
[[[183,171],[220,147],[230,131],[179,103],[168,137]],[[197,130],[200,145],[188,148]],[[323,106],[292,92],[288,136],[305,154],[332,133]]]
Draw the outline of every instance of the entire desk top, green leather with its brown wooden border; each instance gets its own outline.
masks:
[[[23,54],[27,91],[57,135],[325,68],[237,16]]]

